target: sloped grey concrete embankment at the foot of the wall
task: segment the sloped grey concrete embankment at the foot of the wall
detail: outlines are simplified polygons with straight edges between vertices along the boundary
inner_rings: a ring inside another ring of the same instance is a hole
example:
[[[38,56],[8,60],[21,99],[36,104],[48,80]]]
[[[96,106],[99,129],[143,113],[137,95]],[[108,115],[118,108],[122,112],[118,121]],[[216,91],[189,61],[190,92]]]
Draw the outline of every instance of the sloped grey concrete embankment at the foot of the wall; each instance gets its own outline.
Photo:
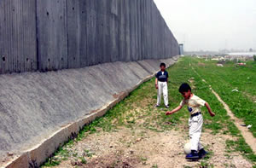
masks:
[[[42,164],[84,125],[152,78],[161,61],[170,66],[175,60],[177,56],[1,75],[0,165]]]

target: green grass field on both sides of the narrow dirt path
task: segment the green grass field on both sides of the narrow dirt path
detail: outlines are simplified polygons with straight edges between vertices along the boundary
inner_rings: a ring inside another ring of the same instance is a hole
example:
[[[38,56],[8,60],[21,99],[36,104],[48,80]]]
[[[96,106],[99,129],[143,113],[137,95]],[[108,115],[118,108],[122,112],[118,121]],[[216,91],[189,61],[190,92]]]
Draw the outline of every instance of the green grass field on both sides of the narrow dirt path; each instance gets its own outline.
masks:
[[[233,152],[239,153],[255,165],[256,155],[253,154],[252,149],[241,136],[240,130],[236,128],[222,104],[212,94],[208,84],[203,82],[202,78],[212,85],[212,89],[218,92],[219,96],[236,114],[236,117],[244,119],[247,124],[253,125],[252,132],[256,136],[256,103],[250,98],[256,96],[254,84],[256,82],[256,64],[248,62],[247,67],[236,67],[233,62],[228,62],[224,67],[216,67],[216,63],[216,61],[183,57],[175,65],[169,67],[167,71],[170,75],[168,87],[169,101],[171,102],[170,109],[177,107],[183,99],[177,91],[179,85],[184,82],[191,84],[195,95],[207,101],[212,107],[212,111],[216,113],[216,116],[212,118],[207,113],[207,108],[202,108],[205,120],[203,131],[210,131],[213,137],[218,135],[235,137],[232,140],[226,141],[224,150],[227,155]],[[192,67],[195,68],[195,71]],[[238,89],[239,92],[231,92],[233,89]],[[67,142],[64,147],[59,148],[44,166],[59,165],[61,160],[67,160],[71,157],[77,157],[86,164],[87,160],[77,156],[70,148],[73,148],[74,143],[82,141],[86,136],[94,133],[122,131],[122,128],[125,127],[131,130],[142,128],[156,132],[177,130],[183,132],[183,134],[188,134],[188,130],[183,130],[179,126],[187,125],[187,120],[189,119],[187,110],[183,108],[172,116],[166,116],[162,109],[154,108],[155,101],[156,90],[154,89],[154,78],[152,78],[142,84],[137,90],[131,92],[130,96],[109,110],[104,117],[96,119],[90,125],[84,126],[79,136]],[[140,122],[138,122],[139,120]],[[89,153],[86,151],[86,154],[84,154],[88,155]],[[207,158],[202,159],[199,166],[213,167],[214,165],[211,165],[211,161],[209,161],[212,155],[214,155],[214,151],[211,151]]]

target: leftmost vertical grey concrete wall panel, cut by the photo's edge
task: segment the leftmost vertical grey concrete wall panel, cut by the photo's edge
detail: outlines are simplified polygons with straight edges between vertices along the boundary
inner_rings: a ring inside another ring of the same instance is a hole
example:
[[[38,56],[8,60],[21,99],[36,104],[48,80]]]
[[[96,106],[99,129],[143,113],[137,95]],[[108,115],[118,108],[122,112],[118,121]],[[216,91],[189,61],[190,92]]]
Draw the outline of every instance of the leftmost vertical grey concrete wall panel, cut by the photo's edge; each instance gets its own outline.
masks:
[[[0,1],[0,73],[37,69],[34,0]]]

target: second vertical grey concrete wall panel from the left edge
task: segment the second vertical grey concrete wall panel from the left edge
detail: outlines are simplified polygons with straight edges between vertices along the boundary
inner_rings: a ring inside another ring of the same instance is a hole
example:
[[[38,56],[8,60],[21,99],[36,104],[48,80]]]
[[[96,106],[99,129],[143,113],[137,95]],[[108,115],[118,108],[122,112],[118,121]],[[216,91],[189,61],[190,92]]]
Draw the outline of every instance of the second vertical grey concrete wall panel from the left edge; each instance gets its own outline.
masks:
[[[40,71],[67,68],[67,2],[37,0]]]

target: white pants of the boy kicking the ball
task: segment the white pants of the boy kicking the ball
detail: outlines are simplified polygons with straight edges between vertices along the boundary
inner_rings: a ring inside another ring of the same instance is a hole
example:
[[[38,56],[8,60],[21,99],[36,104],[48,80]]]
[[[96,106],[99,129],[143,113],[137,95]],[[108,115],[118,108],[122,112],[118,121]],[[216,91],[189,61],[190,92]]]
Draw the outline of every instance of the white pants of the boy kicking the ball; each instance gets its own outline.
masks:
[[[195,117],[189,118],[189,136],[190,136],[191,150],[197,151],[203,148],[200,142],[202,125],[203,125],[203,118],[201,114]]]

